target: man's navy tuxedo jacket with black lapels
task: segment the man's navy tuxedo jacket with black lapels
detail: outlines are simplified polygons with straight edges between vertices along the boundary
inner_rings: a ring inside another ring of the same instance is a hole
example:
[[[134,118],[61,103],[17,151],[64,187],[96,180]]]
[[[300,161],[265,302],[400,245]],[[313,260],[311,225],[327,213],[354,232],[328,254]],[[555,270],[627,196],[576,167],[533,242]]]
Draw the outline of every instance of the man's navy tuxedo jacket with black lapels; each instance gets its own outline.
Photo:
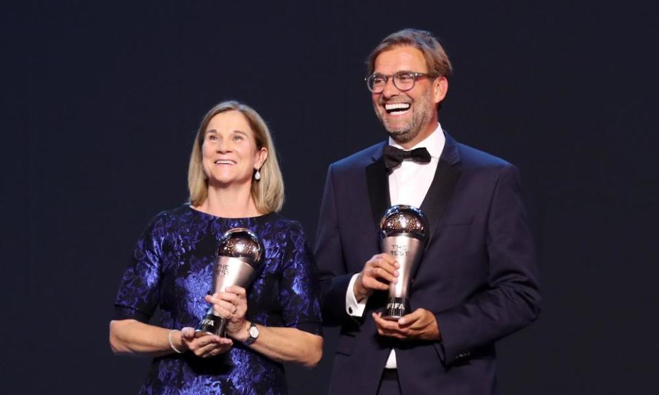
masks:
[[[435,314],[437,342],[378,335],[371,313],[384,310],[386,291],[368,299],[362,318],[346,312],[351,276],[380,253],[379,223],[391,206],[386,143],[329,166],[315,259],[323,322],[340,326],[330,394],[375,394],[392,348],[403,394],[496,394],[495,342],[540,312],[518,170],[444,134],[420,207],[430,237],[409,291],[411,311]]]

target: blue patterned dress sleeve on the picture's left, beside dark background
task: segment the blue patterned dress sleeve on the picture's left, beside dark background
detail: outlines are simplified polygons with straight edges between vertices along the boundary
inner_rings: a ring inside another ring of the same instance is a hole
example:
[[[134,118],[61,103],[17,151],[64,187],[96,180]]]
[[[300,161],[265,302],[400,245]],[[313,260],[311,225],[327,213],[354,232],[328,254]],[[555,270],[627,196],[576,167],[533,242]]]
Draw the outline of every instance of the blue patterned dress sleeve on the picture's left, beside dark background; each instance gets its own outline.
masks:
[[[165,217],[161,213],[151,220],[137,241],[117,292],[115,320],[149,322],[160,300],[164,239]]]

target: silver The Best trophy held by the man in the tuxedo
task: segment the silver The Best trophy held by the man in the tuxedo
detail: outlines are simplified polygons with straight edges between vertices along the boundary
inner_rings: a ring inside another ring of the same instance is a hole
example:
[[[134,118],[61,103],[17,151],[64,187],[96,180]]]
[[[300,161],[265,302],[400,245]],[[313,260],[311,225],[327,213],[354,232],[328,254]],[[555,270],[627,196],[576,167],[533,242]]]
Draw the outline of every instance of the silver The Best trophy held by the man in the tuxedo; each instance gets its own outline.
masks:
[[[382,318],[398,320],[408,313],[408,290],[414,268],[428,242],[428,219],[416,207],[398,204],[380,220],[380,248],[391,254],[400,268],[398,282],[389,284],[389,298]]]

